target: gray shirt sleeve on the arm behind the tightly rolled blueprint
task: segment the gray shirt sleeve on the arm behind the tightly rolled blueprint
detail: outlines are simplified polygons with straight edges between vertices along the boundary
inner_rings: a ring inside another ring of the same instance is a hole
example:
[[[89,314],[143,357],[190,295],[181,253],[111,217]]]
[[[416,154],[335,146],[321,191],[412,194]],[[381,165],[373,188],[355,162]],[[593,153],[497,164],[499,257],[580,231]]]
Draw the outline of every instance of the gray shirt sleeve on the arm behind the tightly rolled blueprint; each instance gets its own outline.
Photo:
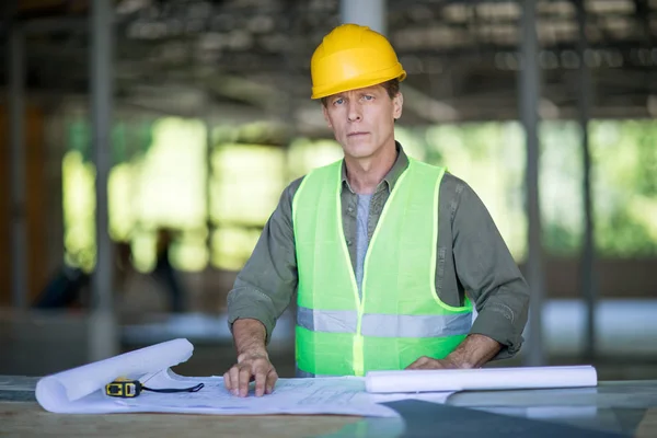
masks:
[[[488,210],[466,184],[452,229],[457,275],[477,311],[470,333],[503,345],[495,359],[512,357],[523,341],[529,287]]]

